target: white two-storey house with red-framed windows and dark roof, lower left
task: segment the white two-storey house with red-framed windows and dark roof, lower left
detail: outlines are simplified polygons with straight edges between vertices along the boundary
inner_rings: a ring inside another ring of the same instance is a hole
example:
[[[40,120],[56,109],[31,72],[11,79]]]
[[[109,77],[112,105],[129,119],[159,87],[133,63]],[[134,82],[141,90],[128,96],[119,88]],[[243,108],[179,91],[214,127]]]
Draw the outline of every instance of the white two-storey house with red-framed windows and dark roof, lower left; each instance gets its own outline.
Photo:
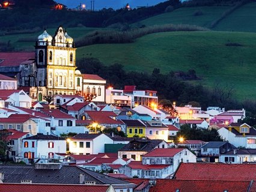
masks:
[[[57,153],[66,154],[66,139],[52,135],[37,134],[22,140],[23,160],[34,163],[38,159],[56,159]]]

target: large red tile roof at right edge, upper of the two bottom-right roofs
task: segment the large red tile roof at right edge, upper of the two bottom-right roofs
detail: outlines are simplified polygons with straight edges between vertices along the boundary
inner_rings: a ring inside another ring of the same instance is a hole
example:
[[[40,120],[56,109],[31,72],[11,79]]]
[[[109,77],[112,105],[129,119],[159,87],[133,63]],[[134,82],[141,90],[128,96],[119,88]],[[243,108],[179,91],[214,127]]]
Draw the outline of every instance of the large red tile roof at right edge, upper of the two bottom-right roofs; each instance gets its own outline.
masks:
[[[255,164],[181,163],[175,179],[207,181],[256,180]]]

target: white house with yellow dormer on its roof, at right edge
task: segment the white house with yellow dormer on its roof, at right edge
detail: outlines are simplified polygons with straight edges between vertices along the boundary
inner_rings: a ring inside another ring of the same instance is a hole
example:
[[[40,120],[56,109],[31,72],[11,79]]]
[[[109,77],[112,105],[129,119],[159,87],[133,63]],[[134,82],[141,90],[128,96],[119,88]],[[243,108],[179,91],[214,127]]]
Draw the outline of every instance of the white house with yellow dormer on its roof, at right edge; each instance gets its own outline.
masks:
[[[247,124],[230,124],[218,130],[222,139],[230,142],[236,147],[256,148],[256,130]]]

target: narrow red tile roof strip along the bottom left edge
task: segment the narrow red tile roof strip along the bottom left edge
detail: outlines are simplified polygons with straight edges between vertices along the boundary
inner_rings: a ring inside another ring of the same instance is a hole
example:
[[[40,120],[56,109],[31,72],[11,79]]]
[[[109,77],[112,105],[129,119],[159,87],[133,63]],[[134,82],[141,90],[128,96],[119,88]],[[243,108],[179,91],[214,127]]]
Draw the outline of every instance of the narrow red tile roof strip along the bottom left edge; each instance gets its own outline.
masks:
[[[103,192],[108,191],[108,185],[67,185],[67,184],[0,184],[4,192]]]

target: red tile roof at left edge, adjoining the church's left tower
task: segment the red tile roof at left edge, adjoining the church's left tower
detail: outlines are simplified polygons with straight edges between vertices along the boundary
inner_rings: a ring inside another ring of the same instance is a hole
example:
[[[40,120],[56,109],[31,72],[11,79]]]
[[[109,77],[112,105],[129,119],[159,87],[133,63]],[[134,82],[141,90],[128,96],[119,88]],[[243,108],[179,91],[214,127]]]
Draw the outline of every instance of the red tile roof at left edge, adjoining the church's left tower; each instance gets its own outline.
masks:
[[[0,53],[1,66],[19,66],[20,63],[34,59],[35,52],[13,52],[13,53]]]

